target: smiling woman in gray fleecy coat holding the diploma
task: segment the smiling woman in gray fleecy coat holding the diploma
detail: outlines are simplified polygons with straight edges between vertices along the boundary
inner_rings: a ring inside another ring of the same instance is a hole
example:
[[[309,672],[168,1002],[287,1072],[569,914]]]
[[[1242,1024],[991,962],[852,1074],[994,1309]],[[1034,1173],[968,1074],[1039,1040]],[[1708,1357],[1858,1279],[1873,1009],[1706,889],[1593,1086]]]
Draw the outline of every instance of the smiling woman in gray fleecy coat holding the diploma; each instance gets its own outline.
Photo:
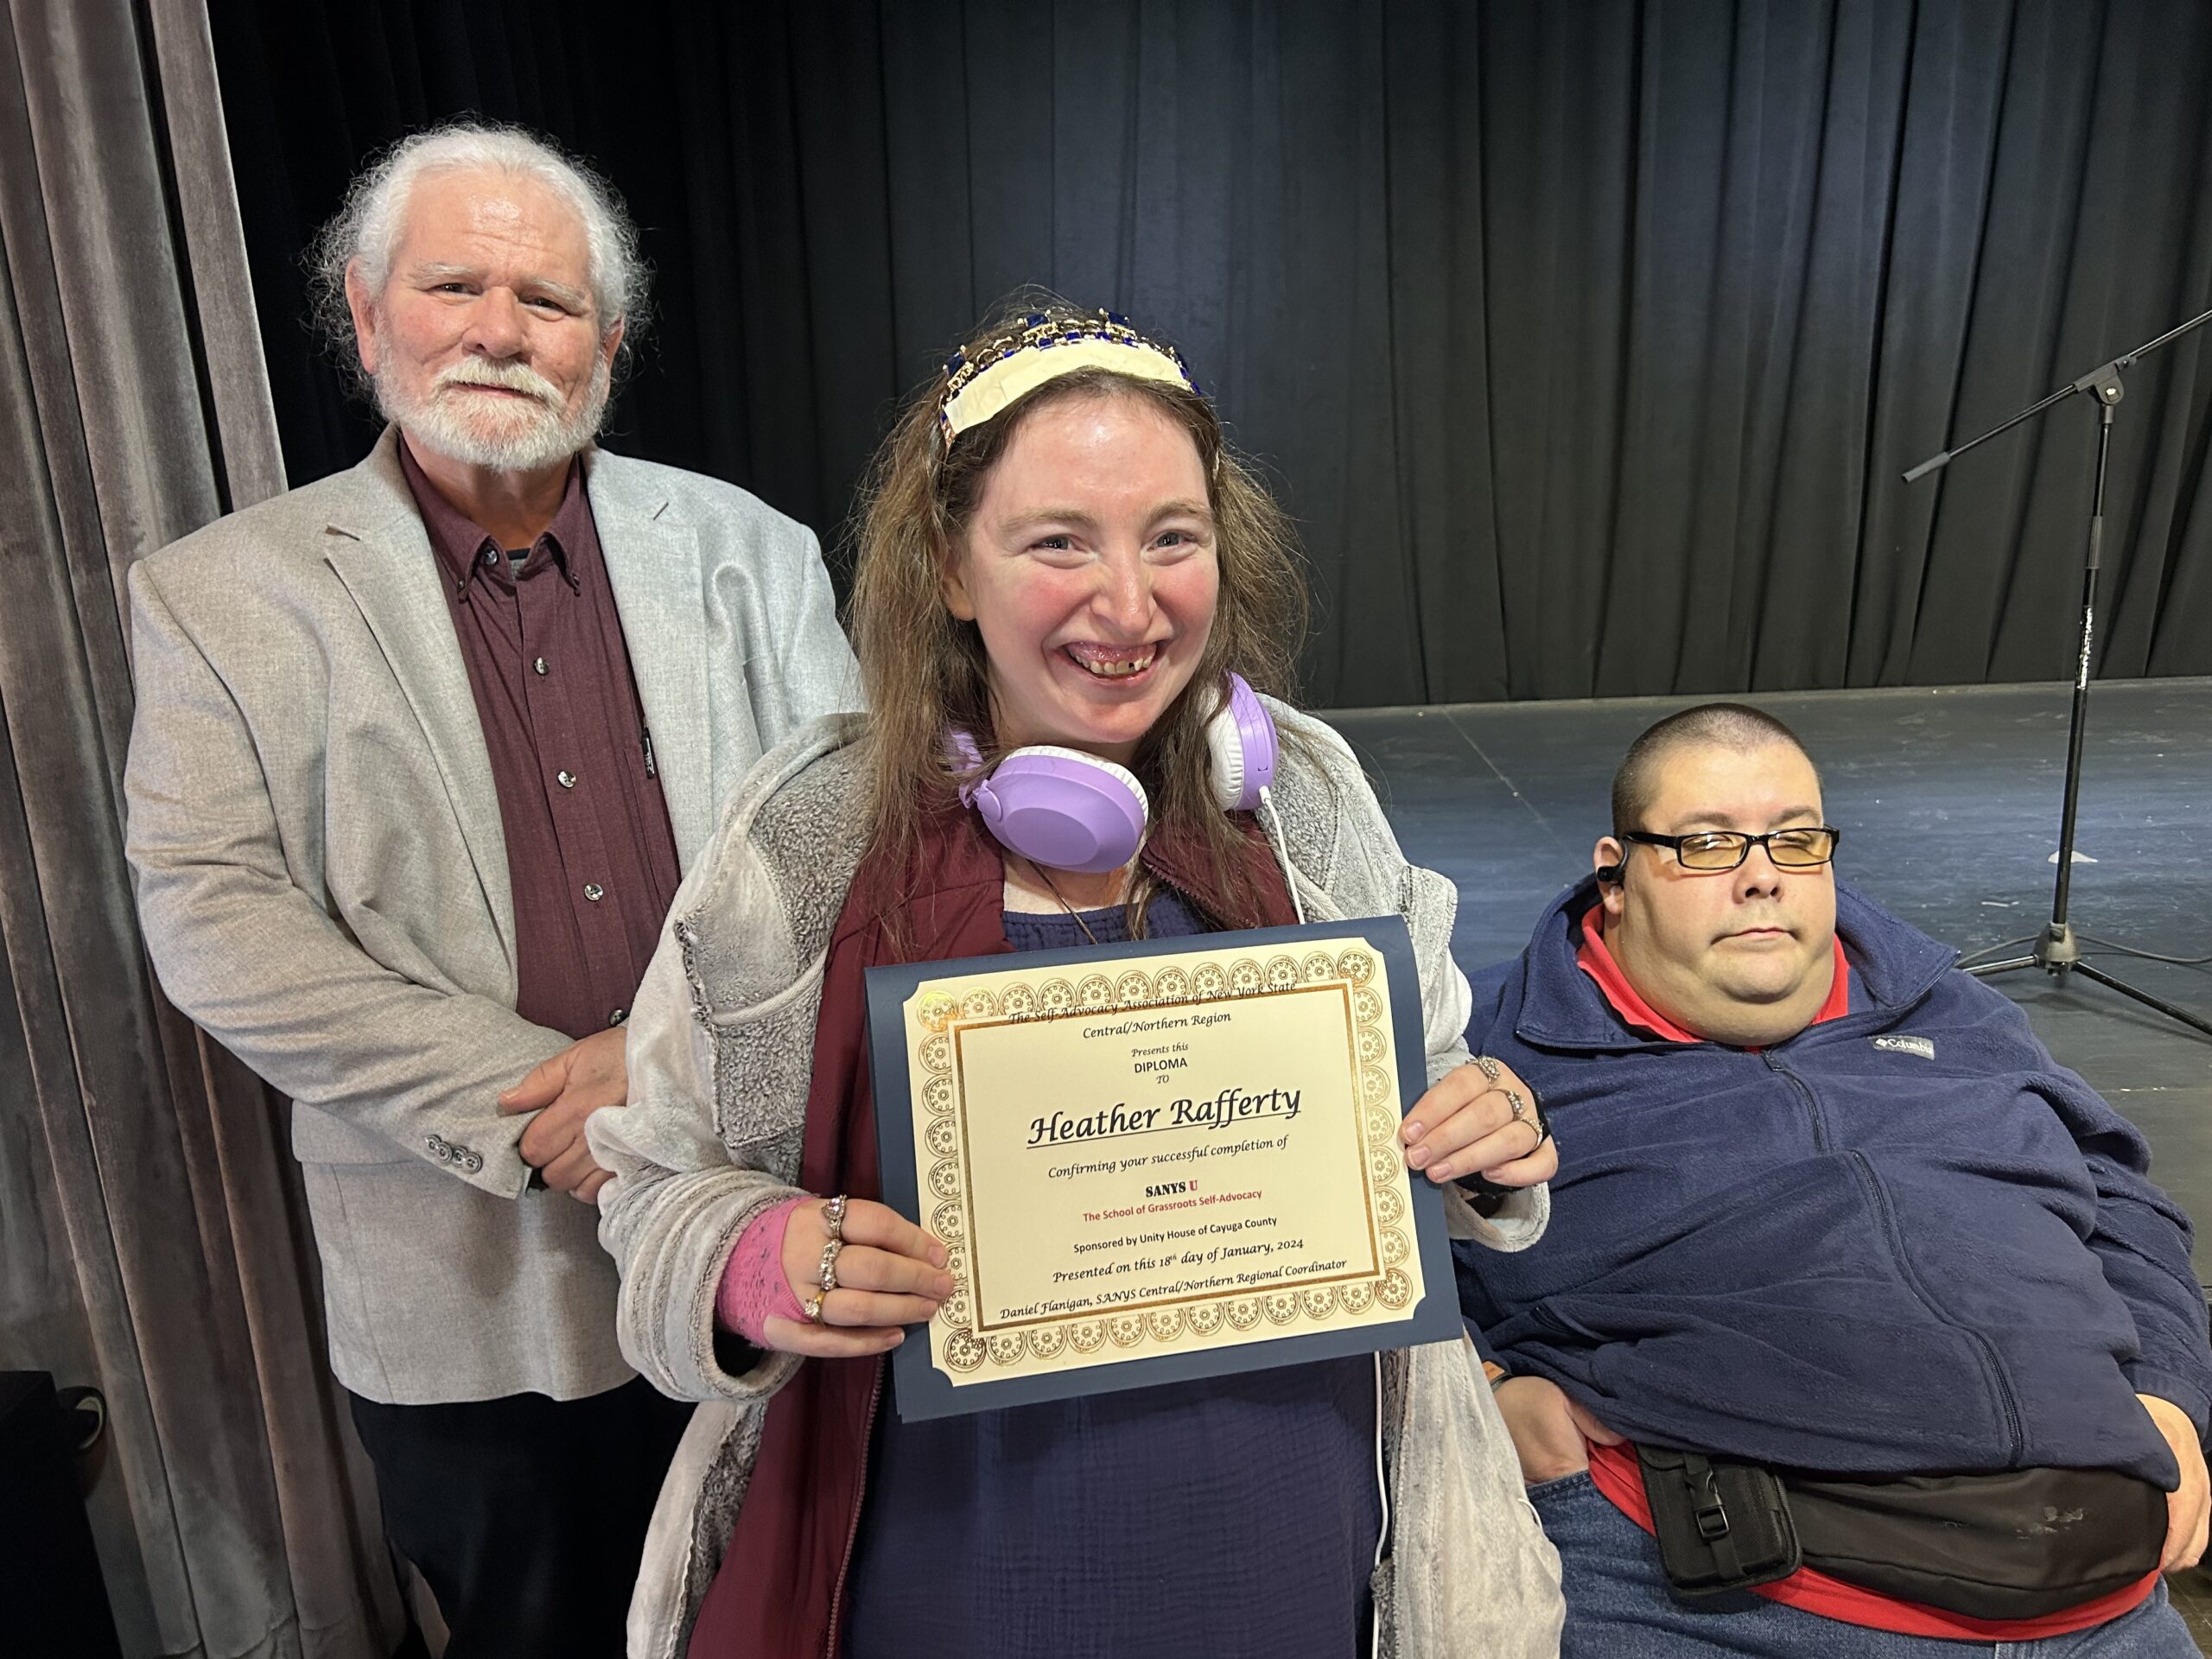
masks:
[[[591,1126],[624,1349],[752,1425],[672,1480],[633,1630],[692,1659],[1551,1655],[1553,1557],[1464,1343],[887,1409],[883,1356],[956,1281],[878,1201],[869,967],[1396,911],[1429,1060],[1407,1164],[1520,1248],[1557,1155],[1517,1079],[1467,1064],[1451,883],[1405,863],[1334,732],[1261,695],[1305,619],[1290,533],[1170,347],[1057,301],[987,325],[885,442],[858,542],[872,712],[728,803],[630,1015],[630,1106]],[[1022,812],[1011,774],[1040,783]],[[1095,1117],[1046,1110],[1040,1144]],[[1489,1221],[1473,1175],[1509,1190]],[[1267,1551],[1223,1555],[1254,1515]]]

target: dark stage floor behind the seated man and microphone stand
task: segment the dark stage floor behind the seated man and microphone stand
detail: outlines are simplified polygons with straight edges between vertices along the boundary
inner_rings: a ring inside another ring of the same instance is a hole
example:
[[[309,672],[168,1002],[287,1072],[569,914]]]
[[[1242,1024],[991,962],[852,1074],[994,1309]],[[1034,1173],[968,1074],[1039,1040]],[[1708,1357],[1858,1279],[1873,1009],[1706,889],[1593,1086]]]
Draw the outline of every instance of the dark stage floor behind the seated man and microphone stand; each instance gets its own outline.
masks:
[[[1750,701],[1820,765],[1838,872],[1962,951],[2039,931],[2057,874],[2066,686],[1792,692]],[[1378,781],[1413,863],[1460,885],[1455,947],[1517,956],[1557,891],[1590,869],[1628,741],[1701,699],[1462,703],[1327,719]],[[2166,956],[2212,956],[2212,679],[2090,695],[2070,920]],[[2097,956],[2108,973],[2212,1015],[2212,969]],[[1991,984],[2051,1051],[2150,1139],[2152,1175],[2199,1223],[2212,1283],[2212,1037],[2079,978]]]

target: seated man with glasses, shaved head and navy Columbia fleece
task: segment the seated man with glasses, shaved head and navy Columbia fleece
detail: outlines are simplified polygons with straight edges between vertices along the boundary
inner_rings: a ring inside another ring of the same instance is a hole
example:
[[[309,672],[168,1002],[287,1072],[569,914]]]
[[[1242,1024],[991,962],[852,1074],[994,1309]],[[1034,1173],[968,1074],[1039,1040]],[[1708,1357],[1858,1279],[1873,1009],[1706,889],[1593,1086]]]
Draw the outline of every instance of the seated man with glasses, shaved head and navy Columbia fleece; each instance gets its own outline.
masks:
[[[2143,1137],[1834,876],[1803,745],[1708,703],[1475,982],[1557,1128],[1462,1303],[1575,1655],[2194,1655],[2212,1352]],[[1480,1062],[1478,1062],[1480,1064]]]

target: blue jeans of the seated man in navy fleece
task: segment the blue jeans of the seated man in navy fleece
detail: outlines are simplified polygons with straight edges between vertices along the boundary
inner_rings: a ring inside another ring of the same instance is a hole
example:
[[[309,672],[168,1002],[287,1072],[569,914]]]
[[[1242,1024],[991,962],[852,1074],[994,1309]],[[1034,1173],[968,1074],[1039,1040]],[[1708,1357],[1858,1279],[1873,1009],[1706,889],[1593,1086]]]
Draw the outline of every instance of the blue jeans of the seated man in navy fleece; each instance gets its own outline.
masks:
[[[1677,1599],[1659,1544],[1597,1491],[1588,1473],[1528,1489],[1559,1548],[1566,1632],[1559,1659],[2197,1659],[2197,1641],[2159,1584],[2132,1613],[2042,1641],[1947,1641],[1867,1630],[1761,1595]]]

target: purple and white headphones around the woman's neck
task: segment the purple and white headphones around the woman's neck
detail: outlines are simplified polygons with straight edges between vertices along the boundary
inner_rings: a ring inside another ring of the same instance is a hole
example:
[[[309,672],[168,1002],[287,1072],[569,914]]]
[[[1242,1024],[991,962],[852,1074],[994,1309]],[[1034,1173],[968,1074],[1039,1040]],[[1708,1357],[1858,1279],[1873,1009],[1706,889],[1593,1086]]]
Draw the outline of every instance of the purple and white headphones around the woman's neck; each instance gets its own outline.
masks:
[[[1274,783],[1274,721],[1241,675],[1230,675],[1228,706],[1214,695],[1206,721],[1214,801],[1225,812],[1252,812]],[[953,757],[978,765],[967,732],[951,734]],[[991,774],[960,785],[960,801],[982,814],[991,838],[1046,869],[1099,874],[1119,869],[1144,845],[1150,803],[1137,776],[1082,750],[1033,745],[1013,750]]]

